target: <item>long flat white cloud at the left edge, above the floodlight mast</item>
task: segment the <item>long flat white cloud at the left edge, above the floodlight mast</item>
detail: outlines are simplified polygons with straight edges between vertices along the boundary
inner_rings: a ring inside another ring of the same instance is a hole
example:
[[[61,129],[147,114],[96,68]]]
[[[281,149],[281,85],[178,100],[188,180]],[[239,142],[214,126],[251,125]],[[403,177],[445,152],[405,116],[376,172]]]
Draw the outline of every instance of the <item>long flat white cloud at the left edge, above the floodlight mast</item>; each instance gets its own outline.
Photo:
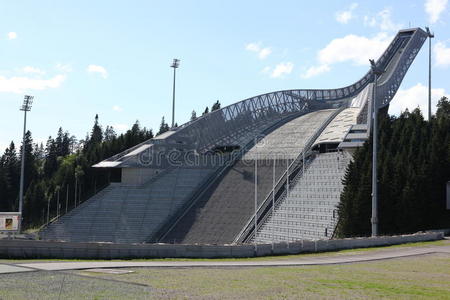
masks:
[[[22,94],[30,90],[57,88],[65,79],[65,75],[56,75],[50,79],[34,79],[28,77],[6,78],[0,76],[0,92]]]

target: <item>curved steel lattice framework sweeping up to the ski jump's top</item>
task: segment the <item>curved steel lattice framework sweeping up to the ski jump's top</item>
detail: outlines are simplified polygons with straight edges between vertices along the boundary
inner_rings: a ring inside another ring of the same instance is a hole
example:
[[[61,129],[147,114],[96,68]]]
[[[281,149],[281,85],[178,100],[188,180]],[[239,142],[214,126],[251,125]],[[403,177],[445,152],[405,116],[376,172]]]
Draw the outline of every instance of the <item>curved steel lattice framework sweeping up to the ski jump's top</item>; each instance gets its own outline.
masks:
[[[376,87],[380,107],[392,100],[426,38],[426,32],[420,28],[401,30],[378,59],[376,66],[386,70]],[[106,161],[122,161],[124,155],[145,144],[163,149],[195,149],[198,153],[216,146],[243,146],[285,117],[347,106],[373,79],[369,71],[356,83],[343,88],[284,90],[248,98],[185,123],[163,140],[146,141]]]

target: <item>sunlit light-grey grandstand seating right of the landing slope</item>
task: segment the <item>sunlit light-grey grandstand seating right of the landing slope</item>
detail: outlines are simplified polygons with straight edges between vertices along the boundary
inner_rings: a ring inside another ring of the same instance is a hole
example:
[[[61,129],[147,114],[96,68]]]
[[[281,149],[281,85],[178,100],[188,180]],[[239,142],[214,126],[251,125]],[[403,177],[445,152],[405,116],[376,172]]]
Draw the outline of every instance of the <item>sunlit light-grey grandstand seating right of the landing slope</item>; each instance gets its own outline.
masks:
[[[346,152],[317,154],[259,227],[258,242],[323,239],[333,234],[342,177],[350,160]]]

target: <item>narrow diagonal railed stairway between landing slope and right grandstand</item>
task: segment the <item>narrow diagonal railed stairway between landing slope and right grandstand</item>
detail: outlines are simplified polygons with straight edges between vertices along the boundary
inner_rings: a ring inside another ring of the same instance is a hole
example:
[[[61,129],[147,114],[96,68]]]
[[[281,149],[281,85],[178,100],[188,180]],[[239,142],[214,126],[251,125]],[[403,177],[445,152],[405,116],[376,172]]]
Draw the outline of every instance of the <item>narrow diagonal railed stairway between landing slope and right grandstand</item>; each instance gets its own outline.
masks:
[[[268,212],[270,211],[271,205],[272,205],[272,198],[273,194],[275,194],[275,202],[277,203],[279,199],[282,199],[282,196],[284,194],[285,186],[286,186],[286,179],[289,178],[289,180],[296,178],[297,174],[302,170],[303,166],[303,160],[309,158],[311,155],[311,147],[313,146],[316,139],[320,136],[320,134],[325,130],[325,128],[331,123],[331,121],[341,112],[343,111],[346,106],[342,106],[339,109],[335,110],[328,118],[321,124],[319,129],[315,132],[314,135],[312,135],[308,141],[306,142],[305,146],[303,147],[303,150],[297,155],[297,157],[292,161],[292,163],[289,165],[286,171],[283,172],[283,174],[280,176],[278,181],[275,184],[275,187],[268,193],[268,195],[265,197],[265,199],[261,202],[261,204],[258,206],[256,210],[256,218],[260,222],[257,222],[259,225],[257,225],[258,230],[261,227],[262,221],[266,220],[268,216]],[[288,177],[289,174],[289,177]],[[275,205],[276,205],[275,203]],[[255,214],[253,214],[250,219],[247,221],[245,226],[242,228],[242,230],[239,232],[239,234],[234,239],[233,243],[244,243],[251,239],[254,235],[254,224],[255,222]]]

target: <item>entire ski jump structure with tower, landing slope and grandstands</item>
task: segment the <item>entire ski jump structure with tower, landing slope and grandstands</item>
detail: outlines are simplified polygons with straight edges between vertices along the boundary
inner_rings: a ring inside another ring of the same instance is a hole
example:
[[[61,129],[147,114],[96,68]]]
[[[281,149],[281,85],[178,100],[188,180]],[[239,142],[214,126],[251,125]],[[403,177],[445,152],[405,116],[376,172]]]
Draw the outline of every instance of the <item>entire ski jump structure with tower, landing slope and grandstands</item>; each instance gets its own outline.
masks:
[[[372,93],[378,108],[389,105],[426,38],[420,28],[399,31],[375,63],[385,71],[376,86],[369,71],[343,88],[258,95],[94,165],[121,169],[121,182],[49,224],[41,238],[229,244],[332,237],[350,153],[370,134]]]

